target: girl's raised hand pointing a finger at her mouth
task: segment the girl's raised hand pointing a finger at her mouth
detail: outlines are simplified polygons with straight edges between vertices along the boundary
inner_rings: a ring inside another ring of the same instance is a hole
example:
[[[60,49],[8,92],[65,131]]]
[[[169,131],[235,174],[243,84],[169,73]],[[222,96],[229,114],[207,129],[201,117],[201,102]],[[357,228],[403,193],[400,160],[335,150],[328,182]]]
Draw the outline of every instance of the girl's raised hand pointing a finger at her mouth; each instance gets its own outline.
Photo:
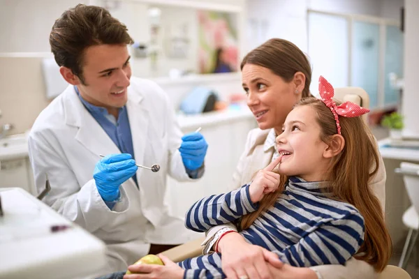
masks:
[[[277,190],[279,186],[279,174],[272,172],[272,170],[277,167],[281,159],[282,156],[279,156],[267,165],[267,167],[260,169],[258,174],[256,174],[255,179],[253,179],[249,187],[251,202],[259,202],[264,195]]]

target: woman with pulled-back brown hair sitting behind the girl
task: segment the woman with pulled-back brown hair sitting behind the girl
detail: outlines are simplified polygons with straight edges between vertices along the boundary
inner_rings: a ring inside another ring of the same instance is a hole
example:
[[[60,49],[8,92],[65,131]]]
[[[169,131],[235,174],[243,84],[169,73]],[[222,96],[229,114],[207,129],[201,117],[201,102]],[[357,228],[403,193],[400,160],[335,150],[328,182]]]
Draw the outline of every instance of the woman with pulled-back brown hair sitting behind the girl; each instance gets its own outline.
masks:
[[[271,39],[251,50],[244,57],[240,66],[242,70],[243,89],[247,94],[247,105],[258,121],[258,129],[251,130],[247,144],[233,175],[231,189],[251,181],[258,169],[269,165],[279,154],[274,148],[275,137],[281,133],[286,116],[293,105],[301,98],[311,96],[311,66],[307,56],[293,43],[287,40]],[[369,186],[381,202],[385,202],[385,169],[383,159],[379,156],[378,172]],[[228,278],[239,278],[247,274],[264,275],[272,270],[263,259],[270,255],[258,246],[246,243],[237,233],[226,234],[219,243],[214,236],[217,232],[235,229],[219,226],[210,229],[205,240],[205,252],[218,248],[222,254],[223,271]],[[240,251],[240,253],[237,253]],[[273,269],[275,270],[275,269]],[[372,278],[374,269],[366,262],[349,259],[346,266],[323,265],[310,269],[297,268],[284,264],[277,269],[276,276],[281,278]],[[260,276],[262,277],[262,276]]]

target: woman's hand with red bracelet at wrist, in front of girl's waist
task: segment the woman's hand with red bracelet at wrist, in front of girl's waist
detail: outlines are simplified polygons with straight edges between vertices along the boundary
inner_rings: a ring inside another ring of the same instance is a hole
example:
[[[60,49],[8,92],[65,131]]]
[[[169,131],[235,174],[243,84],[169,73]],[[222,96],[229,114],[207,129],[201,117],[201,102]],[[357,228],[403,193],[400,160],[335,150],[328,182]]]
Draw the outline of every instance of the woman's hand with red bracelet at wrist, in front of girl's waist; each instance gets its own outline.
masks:
[[[284,265],[278,255],[247,243],[237,232],[223,236],[218,243],[218,250],[221,252],[221,268],[228,279],[242,276],[251,279],[273,279],[277,277],[271,275],[269,266],[280,269]]]

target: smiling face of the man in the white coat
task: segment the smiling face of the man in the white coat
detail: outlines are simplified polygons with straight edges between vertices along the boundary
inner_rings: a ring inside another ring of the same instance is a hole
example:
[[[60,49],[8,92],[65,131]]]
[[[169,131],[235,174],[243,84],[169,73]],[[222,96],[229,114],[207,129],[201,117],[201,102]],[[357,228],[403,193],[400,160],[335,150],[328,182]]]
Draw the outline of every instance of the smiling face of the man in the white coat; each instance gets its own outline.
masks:
[[[126,88],[131,66],[126,45],[94,45],[83,55],[83,82],[77,84],[80,94],[92,105],[118,111],[127,101]]]

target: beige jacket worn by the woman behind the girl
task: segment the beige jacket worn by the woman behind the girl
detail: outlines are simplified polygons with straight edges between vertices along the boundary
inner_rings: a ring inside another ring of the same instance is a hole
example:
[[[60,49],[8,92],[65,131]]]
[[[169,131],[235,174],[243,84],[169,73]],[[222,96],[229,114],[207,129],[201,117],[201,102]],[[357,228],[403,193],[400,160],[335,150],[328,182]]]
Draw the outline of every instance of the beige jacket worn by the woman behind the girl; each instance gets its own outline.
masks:
[[[260,130],[259,128],[253,129],[247,135],[247,142],[244,148],[244,152],[240,157],[237,169],[233,174],[233,184],[230,186],[231,190],[237,189],[246,183],[251,181],[251,177],[259,169],[267,166],[273,155],[273,149],[263,151],[263,144],[267,134],[270,130]],[[375,140],[375,139],[374,139]],[[385,206],[385,167],[383,158],[380,156],[380,165],[378,166],[378,172],[374,177],[372,184],[374,194],[381,202],[381,206],[384,211]],[[217,229],[218,230],[218,229]],[[216,230],[212,228],[207,234],[209,240],[211,236],[214,236]],[[346,262],[346,266],[343,265],[323,265],[313,266],[314,269],[320,273],[322,279],[353,279],[353,278],[374,278],[376,274],[372,266],[366,262],[349,259]]]

